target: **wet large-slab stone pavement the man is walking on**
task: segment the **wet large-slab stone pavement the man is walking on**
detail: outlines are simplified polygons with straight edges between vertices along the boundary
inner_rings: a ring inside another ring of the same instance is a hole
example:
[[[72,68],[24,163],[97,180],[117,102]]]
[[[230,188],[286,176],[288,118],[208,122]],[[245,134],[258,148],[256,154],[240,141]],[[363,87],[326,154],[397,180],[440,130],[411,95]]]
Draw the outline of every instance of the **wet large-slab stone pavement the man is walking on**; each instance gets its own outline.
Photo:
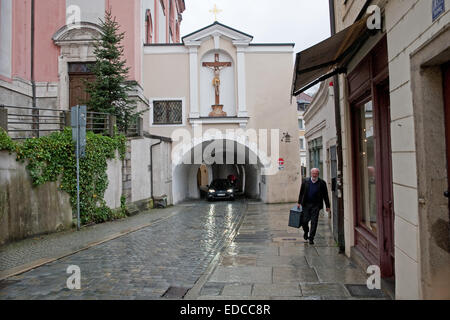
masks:
[[[203,283],[200,300],[353,300],[344,284],[365,283],[366,275],[333,239],[330,220],[321,214],[310,245],[303,231],[287,227],[292,205],[249,205],[238,236],[222,252],[220,263]],[[256,267],[253,265],[256,260]],[[224,290],[208,294],[209,284]],[[251,295],[248,294],[252,288]],[[226,289],[226,290],[225,290]],[[192,296],[191,296],[192,298]]]

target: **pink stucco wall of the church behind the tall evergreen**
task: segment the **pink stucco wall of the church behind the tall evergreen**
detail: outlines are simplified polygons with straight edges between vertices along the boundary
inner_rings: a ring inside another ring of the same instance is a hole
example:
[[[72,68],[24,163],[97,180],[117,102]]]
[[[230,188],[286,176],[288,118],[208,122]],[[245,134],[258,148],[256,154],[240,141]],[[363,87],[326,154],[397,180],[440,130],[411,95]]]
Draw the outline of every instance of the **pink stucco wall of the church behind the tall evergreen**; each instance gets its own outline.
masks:
[[[130,67],[129,79],[141,82],[142,29],[139,0],[104,0],[105,8],[112,8],[113,16],[125,32],[122,42],[124,58]],[[167,2],[167,1],[166,1]],[[155,1],[158,9],[159,1]],[[166,6],[167,8],[167,6]],[[163,17],[165,18],[165,17]],[[65,25],[66,1],[35,1],[35,80],[58,81],[60,49],[53,43],[56,31]],[[158,35],[158,10],[155,10],[155,36]],[[168,21],[166,22],[168,24]],[[12,77],[31,80],[31,0],[13,1],[12,20]],[[164,41],[165,39],[159,39]],[[6,79],[8,80],[8,79]]]

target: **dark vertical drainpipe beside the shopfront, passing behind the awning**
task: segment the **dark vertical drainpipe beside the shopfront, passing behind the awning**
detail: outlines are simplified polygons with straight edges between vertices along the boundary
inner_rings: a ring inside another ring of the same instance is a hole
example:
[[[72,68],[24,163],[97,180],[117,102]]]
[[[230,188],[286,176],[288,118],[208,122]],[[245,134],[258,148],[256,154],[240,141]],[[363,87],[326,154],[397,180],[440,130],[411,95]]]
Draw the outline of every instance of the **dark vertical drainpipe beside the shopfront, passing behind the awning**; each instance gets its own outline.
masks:
[[[334,0],[329,0],[330,7],[330,26],[331,35],[336,34],[336,17],[335,17],[335,7]],[[342,156],[342,123],[341,123],[341,108],[340,108],[340,97],[339,97],[339,76],[335,75],[333,77],[334,82],[334,113],[336,122],[336,152],[338,158],[338,172],[337,172],[337,190],[338,190],[338,245],[339,253],[345,252],[345,236],[344,236],[344,189],[343,189],[343,156]]]

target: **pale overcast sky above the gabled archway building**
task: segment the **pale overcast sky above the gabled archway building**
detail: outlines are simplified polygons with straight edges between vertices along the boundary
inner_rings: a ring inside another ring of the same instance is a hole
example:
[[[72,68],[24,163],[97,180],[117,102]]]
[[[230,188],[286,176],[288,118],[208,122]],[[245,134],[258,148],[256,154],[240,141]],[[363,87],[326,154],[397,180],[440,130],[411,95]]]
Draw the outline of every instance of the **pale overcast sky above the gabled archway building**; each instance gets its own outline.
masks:
[[[252,35],[254,43],[295,43],[302,51],[330,36],[328,0],[185,0],[181,35],[218,22]],[[313,90],[314,91],[314,90]],[[310,91],[308,90],[308,93]]]

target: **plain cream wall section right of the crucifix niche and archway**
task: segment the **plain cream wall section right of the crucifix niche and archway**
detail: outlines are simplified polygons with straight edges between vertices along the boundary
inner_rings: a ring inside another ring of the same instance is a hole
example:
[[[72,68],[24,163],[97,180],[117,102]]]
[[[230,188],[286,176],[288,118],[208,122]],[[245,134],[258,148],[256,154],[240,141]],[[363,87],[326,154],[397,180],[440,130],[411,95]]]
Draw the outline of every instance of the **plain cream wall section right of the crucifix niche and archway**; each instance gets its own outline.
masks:
[[[246,54],[248,127],[279,129],[279,157],[285,160],[283,170],[266,177],[268,203],[296,202],[300,190],[300,143],[295,136],[298,116],[289,93],[292,69],[291,53]],[[283,133],[289,133],[290,143],[281,142]],[[268,149],[271,150],[270,144]]]

